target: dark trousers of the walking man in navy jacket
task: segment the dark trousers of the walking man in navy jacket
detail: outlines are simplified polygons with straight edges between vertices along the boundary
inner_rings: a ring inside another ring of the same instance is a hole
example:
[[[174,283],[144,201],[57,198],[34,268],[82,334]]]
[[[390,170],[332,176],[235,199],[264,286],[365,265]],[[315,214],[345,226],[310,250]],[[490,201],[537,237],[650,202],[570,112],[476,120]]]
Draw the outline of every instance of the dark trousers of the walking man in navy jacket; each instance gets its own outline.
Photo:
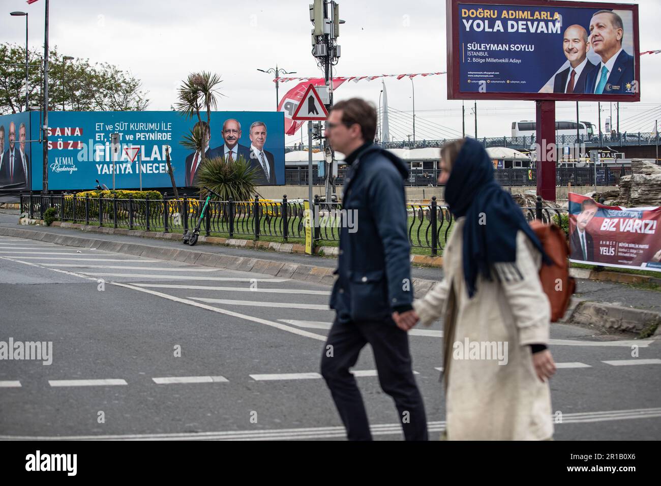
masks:
[[[381,389],[395,401],[406,440],[427,440],[427,419],[413,378],[407,333],[392,321],[340,323],[335,319],[321,356],[321,375],[348,440],[371,440],[365,405],[356,378],[349,372],[367,343],[374,352]]]

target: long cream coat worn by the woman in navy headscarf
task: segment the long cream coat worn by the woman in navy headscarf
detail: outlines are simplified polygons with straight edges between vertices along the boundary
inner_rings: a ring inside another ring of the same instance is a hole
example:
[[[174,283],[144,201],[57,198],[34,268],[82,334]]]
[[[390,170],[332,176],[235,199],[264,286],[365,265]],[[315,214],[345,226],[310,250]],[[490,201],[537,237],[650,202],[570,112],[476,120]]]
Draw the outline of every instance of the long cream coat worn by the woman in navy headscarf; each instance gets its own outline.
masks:
[[[413,304],[423,325],[445,315],[447,439],[549,439],[549,384],[537,378],[528,345],[549,343],[551,309],[539,282],[541,255],[519,231],[516,263],[496,264],[498,278],[492,281],[479,276],[469,299],[461,269],[462,228],[459,218],[444,253],[444,280]],[[486,348],[482,359],[466,359],[475,357],[461,352],[466,340],[500,343],[503,351],[507,343],[506,364],[498,364],[497,353],[485,359]]]

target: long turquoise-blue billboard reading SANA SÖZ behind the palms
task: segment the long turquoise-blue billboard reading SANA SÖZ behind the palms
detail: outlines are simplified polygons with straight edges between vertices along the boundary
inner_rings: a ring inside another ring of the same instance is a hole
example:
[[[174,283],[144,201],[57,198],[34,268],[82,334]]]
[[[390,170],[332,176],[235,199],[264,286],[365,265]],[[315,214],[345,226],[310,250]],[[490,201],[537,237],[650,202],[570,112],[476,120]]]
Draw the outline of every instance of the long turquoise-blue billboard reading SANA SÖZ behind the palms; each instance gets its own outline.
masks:
[[[39,113],[30,116],[32,134],[38,134]],[[166,147],[180,187],[195,186],[203,160],[213,157],[243,157],[256,169],[257,185],[284,184],[282,112],[212,112],[204,155],[180,143],[198,120],[178,112],[49,112],[48,116],[49,190],[94,188],[97,179],[112,187],[113,167],[118,189],[137,188],[140,177],[143,188],[169,187]],[[206,113],[202,119],[206,120]],[[119,134],[116,151],[111,143],[114,133]],[[41,143],[33,142],[32,151],[41,155]],[[32,190],[42,188],[42,157],[37,159],[32,165]]]

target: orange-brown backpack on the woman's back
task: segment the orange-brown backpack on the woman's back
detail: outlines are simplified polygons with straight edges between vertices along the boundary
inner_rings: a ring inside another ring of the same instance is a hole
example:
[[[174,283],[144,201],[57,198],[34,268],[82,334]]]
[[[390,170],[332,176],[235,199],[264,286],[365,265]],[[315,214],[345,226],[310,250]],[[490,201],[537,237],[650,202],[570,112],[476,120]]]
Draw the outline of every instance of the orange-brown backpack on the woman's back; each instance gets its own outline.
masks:
[[[551,302],[551,322],[557,322],[562,319],[572,294],[576,292],[576,282],[569,275],[569,245],[563,229],[558,225],[533,220],[530,227],[553,262],[550,265],[542,263],[539,280]]]

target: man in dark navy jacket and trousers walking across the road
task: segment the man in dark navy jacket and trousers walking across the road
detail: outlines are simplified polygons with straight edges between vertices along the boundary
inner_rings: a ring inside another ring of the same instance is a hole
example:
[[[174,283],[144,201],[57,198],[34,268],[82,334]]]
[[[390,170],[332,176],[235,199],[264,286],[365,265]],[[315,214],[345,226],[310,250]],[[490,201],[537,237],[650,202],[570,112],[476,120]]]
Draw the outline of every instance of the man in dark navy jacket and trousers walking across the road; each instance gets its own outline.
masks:
[[[410,246],[401,159],[373,145],[376,111],[362,99],[334,105],[326,124],[333,149],[348,154],[342,210],[352,227],[340,230],[336,317],[321,358],[321,374],[349,440],[371,440],[365,405],[349,371],[371,344],[379,384],[393,397],[407,440],[427,440],[422,396],[413,378],[408,335],[393,312],[412,311]]]

